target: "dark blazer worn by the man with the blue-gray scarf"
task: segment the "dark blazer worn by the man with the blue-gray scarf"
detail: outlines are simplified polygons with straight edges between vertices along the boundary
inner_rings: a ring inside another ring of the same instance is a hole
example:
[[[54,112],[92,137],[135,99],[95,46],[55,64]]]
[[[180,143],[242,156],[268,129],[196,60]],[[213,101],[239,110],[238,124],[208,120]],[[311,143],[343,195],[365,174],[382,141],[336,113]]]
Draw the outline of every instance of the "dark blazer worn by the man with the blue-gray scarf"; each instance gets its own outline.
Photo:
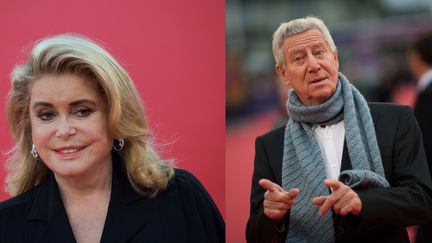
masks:
[[[409,242],[405,226],[432,217],[432,184],[421,132],[408,107],[371,103],[370,110],[391,188],[356,190],[362,214],[333,214],[336,242]],[[265,190],[258,185],[261,178],[281,184],[284,132],[281,127],[256,139],[248,242],[285,242],[289,211],[280,222],[267,218],[262,206]],[[346,145],[341,167],[352,168]]]

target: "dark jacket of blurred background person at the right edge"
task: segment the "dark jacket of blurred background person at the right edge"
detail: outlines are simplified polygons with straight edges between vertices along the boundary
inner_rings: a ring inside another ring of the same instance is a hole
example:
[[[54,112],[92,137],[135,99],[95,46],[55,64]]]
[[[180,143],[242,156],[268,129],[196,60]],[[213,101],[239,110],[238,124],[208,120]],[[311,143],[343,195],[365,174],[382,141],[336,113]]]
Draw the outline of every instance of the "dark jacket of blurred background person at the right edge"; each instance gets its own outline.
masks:
[[[429,173],[432,175],[432,84],[417,96],[414,115],[422,130],[423,144],[429,163]],[[432,221],[418,227],[416,242],[432,242]]]

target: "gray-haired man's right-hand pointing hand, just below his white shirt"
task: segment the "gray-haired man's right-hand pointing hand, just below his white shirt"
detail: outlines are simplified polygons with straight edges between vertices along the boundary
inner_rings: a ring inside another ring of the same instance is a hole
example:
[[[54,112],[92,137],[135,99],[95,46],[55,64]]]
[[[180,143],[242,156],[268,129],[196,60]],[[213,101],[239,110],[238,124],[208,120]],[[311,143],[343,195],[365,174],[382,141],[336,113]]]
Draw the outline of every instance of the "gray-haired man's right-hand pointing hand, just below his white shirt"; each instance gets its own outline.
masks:
[[[335,213],[345,216],[349,213],[360,215],[362,202],[358,194],[340,181],[326,179],[324,185],[332,189],[329,196],[319,196],[312,200],[312,204],[321,206],[319,214],[323,216],[330,208]]]

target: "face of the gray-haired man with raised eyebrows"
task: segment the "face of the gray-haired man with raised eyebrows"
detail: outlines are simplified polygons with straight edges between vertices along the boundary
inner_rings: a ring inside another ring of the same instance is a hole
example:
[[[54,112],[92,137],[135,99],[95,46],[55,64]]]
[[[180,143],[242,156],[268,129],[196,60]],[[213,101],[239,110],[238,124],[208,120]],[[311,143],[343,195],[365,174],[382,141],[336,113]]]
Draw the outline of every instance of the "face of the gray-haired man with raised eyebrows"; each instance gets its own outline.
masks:
[[[330,49],[319,30],[290,36],[283,48],[285,67],[276,64],[276,71],[304,105],[321,104],[333,95],[338,82],[338,53]]]

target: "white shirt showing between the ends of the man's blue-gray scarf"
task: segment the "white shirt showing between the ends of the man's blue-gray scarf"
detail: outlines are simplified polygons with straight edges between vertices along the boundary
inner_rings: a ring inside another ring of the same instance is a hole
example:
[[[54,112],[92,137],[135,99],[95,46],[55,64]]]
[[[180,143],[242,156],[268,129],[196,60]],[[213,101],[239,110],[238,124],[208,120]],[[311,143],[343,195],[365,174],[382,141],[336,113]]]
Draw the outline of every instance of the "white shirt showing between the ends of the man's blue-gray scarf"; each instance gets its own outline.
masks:
[[[324,159],[327,179],[337,180],[342,164],[342,152],[345,141],[345,123],[340,121],[334,125],[312,127]]]

